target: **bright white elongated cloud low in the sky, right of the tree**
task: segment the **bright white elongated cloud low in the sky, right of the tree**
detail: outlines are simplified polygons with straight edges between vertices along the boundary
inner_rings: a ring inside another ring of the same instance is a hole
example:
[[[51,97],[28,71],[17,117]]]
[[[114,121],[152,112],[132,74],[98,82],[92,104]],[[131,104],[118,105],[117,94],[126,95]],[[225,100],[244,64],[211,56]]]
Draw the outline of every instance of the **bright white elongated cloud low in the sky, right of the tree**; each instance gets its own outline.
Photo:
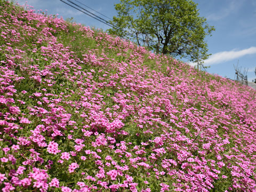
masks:
[[[210,55],[208,59],[204,61],[204,65],[213,65],[220,62],[230,61],[233,59],[237,59],[239,57],[243,57],[248,54],[256,54],[256,47],[252,46],[248,49],[240,50],[240,51],[222,51],[218,53],[214,53]]]

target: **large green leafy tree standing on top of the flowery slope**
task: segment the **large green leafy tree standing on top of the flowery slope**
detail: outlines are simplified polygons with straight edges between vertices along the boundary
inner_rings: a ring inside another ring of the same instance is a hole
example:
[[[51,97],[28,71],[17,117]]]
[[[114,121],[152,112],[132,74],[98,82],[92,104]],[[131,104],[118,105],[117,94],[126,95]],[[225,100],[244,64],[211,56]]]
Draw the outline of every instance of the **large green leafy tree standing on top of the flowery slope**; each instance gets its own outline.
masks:
[[[135,40],[157,53],[190,61],[207,59],[207,35],[213,26],[199,17],[197,4],[190,0],[121,0],[117,16],[110,21],[110,34]],[[131,37],[132,35],[132,37]]]

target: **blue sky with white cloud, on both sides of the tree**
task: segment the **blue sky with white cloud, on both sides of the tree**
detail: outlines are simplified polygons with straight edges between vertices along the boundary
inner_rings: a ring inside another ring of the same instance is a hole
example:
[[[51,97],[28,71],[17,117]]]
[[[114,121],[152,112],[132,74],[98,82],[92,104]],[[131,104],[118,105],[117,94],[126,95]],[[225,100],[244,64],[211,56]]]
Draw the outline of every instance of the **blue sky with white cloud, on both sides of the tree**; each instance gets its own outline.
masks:
[[[85,26],[108,29],[108,26],[82,12],[62,3],[59,0],[15,0],[20,5],[27,2],[35,10],[47,10],[48,14],[59,14],[59,17],[71,18]],[[75,2],[75,0],[73,0]],[[98,12],[112,18],[116,14],[115,3],[119,0],[79,0]],[[256,76],[256,1],[255,0],[194,0],[201,17],[215,27],[211,37],[207,37],[209,53],[205,60],[210,66],[207,71],[222,77],[234,79],[233,65],[248,69],[248,80]],[[94,12],[95,13],[95,12]],[[95,13],[96,14],[96,13]],[[98,13],[97,13],[98,14]],[[105,18],[108,20],[107,18]],[[192,63],[190,63],[192,64]],[[193,64],[192,64],[193,65]]]

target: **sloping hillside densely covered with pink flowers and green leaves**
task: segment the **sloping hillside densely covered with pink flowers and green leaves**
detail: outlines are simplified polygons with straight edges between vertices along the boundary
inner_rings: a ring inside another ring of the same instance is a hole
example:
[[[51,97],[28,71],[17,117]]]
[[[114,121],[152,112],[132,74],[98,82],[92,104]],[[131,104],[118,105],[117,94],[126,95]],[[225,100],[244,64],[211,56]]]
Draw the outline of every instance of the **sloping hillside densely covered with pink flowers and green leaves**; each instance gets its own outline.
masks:
[[[256,191],[254,90],[25,8],[0,0],[2,191]]]

